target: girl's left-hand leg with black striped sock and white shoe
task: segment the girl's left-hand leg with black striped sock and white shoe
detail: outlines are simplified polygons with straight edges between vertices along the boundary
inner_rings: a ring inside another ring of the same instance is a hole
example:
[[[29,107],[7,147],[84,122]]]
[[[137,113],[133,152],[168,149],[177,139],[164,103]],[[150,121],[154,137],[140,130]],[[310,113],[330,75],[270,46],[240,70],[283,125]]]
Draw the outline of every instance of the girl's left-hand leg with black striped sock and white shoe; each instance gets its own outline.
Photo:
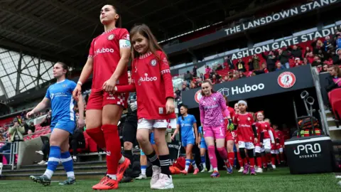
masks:
[[[139,119],[137,124],[136,139],[140,144],[141,149],[146,154],[149,161],[153,165],[153,175],[151,176],[151,186],[158,181],[158,176],[161,173],[160,160],[154,151],[151,142],[149,142],[149,132],[153,128],[153,120]]]

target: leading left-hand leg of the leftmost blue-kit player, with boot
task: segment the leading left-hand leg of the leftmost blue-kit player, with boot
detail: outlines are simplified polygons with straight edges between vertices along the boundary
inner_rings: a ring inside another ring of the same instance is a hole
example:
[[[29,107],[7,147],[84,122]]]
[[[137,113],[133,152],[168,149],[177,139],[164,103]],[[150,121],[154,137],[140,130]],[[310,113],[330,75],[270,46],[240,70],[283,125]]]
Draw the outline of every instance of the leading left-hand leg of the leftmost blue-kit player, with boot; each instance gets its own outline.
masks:
[[[43,176],[30,176],[33,181],[42,183],[44,186],[50,185],[53,172],[55,169],[57,169],[60,161],[60,146],[63,144],[65,139],[69,139],[69,134],[69,132],[63,129],[54,128],[52,130],[50,135],[50,154],[48,157],[48,167]]]

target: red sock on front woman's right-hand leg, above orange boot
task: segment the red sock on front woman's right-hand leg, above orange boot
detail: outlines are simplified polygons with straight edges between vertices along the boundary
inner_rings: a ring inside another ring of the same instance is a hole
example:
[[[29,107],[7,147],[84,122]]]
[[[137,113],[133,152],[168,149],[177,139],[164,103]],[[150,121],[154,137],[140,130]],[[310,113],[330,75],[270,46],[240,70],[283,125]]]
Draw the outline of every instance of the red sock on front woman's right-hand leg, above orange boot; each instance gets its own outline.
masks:
[[[117,166],[121,157],[121,141],[117,125],[103,124],[105,144],[107,145],[107,174],[117,174]]]

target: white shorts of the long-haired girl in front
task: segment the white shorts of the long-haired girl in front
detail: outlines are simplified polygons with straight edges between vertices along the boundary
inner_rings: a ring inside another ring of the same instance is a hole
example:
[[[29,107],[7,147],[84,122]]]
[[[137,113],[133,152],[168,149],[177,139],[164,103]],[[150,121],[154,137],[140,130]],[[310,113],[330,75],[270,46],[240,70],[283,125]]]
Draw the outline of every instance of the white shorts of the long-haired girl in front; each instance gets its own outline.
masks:
[[[137,129],[153,129],[153,128],[176,128],[176,119],[144,119],[141,118],[137,122]]]

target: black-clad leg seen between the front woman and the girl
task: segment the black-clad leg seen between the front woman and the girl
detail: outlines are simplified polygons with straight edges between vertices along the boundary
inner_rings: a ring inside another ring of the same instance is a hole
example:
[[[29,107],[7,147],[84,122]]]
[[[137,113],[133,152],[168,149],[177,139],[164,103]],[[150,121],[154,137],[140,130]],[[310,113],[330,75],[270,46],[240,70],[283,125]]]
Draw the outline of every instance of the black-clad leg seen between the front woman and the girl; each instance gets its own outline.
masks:
[[[137,122],[136,121],[126,121],[123,127],[123,147],[124,147],[124,157],[128,158],[131,164],[129,165],[129,169],[126,169],[124,172],[124,179],[121,181],[123,183],[132,181],[132,173],[133,173],[133,164],[134,155],[133,155],[133,143],[136,141],[136,129]]]

